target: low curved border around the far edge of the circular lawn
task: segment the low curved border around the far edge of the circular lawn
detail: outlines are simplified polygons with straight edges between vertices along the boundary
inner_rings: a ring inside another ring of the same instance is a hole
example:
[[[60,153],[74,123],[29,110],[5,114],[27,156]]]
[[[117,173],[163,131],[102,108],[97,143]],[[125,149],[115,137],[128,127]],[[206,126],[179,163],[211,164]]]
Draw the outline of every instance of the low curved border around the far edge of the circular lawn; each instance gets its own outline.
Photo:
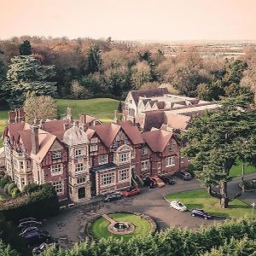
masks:
[[[154,235],[154,233],[157,230],[157,224],[155,223],[154,219],[152,219],[151,217],[149,217],[146,214],[140,213],[140,212],[108,212],[107,214],[111,214],[111,213],[127,213],[127,214],[133,214],[133,215],[137,215],[140,218],[144,218],[148,221],[148,223],[151,226],[151,230],[150,230],[150,235]],[[88,239],[90,240],[97,240],[97,238],[95,236],[93,236],[92,231],[91,231],[91,225],[96,221],[96,219],[98,218],[102,218],[102,215],[98,215],[93,219],[90,219],[90,221],[87,222],[86,226],[84,227],[84,233],[85,236],[88,237]]]

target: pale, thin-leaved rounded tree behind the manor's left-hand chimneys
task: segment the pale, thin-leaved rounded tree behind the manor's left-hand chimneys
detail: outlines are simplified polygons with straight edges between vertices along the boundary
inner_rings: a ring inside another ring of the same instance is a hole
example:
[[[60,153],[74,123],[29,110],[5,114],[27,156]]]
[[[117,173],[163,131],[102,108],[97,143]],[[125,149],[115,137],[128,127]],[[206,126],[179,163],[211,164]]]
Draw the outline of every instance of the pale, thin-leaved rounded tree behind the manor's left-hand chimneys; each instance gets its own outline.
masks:
[[[57,116],[55,100],[51,96],[36,96],[35,92],[27,92],[24,111],[28,124],[32,124],[35,118],[45,121]]]

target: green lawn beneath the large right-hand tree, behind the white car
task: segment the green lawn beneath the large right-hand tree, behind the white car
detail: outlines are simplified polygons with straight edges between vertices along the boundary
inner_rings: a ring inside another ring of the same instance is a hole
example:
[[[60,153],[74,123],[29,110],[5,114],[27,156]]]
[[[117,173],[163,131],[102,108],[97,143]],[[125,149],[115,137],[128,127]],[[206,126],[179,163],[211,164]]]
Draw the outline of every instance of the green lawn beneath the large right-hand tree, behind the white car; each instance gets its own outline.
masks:
[[[236,199],[229,203],[229,208],[222,209],[219,207],[218,199],[207,194],[207,191],[203,189],[195,189],[191,191],[179,192],[166,196],[168,201],[179,200],[188,207],[189,210],[193,208],[203,208],[212,215],[218,215],[230,218],[240,218],[245,215],[252,217],[252,207],[247,206],[244,202]],[[256,218],[256,213],[253,213],[253,217]]]

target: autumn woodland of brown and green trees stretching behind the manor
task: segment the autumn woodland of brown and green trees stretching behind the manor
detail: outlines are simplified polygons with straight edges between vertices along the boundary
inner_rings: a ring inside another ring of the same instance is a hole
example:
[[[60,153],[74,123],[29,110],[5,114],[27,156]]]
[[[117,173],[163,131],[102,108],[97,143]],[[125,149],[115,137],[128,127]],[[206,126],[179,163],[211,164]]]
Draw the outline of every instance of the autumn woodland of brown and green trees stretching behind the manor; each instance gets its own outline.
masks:
[[[23,42],[31,44],[31,51]],[[11,60],[21,54],[55,68],[48,83],[56,82],[58,97],[124,98],[129,90],[169,84],[171,92],[212,100],[255,90],[255,49],[244,51],[239,59],[228,60],[202,58],[193,47],[167,55],[162,44],[115,42],[111,38],[12,38],[0,41],[0,83],[8,79],[10,65],[14,65]]]

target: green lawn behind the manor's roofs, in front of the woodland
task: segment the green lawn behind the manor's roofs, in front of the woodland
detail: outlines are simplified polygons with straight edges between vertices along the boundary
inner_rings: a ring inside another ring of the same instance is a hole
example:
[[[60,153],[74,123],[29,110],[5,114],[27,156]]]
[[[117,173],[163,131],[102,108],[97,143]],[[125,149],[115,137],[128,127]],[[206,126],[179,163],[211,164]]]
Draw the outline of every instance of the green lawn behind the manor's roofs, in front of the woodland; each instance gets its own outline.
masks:
[[[119,101],[108,98],[89,100],[58,99],[56,104],[61,114],[66,114],[68,107],[72,108],[75,119],[79,117],[80,113],[85,113],[101,119],[104,123],[108,123],[113,120],[113,110],[118,108]]]

